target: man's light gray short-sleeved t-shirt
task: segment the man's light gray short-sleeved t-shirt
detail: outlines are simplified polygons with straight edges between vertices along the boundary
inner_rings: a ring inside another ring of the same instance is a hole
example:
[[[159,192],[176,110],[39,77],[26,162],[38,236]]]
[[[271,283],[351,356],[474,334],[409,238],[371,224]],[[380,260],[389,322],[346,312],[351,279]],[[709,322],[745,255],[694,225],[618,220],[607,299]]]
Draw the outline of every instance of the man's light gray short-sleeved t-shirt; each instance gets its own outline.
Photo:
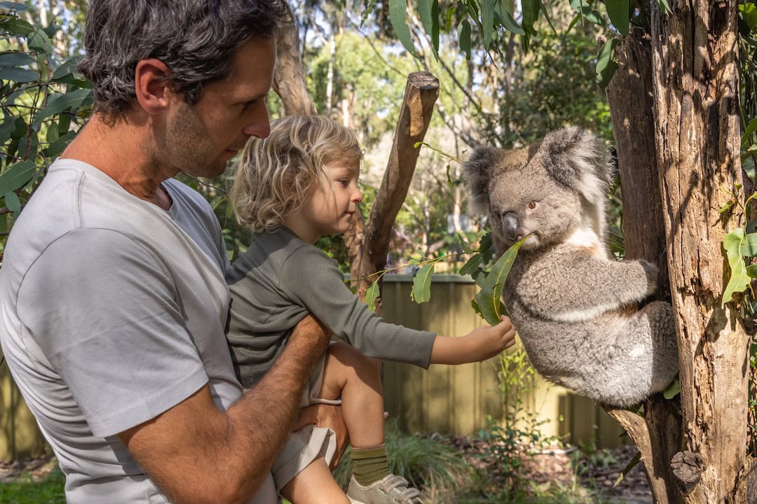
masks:
[[[8,239],[0,342],[68,502],[167,502],[116,434],[206,383],[222,410],[241,396],[218,221],[195,191],[163,187],[168,212],[59,159]]]

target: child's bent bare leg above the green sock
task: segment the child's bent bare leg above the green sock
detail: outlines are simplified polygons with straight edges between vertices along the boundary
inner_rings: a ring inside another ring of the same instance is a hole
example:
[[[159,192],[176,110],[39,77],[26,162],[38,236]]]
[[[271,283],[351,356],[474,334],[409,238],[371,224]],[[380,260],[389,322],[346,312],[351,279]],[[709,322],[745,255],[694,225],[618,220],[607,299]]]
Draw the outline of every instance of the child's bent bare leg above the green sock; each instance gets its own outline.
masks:
[[[354,449],[384,443],[384,397],[378,360],[344,342],[333,343],[326,353],[320,397],[341,397],[344,425]]]

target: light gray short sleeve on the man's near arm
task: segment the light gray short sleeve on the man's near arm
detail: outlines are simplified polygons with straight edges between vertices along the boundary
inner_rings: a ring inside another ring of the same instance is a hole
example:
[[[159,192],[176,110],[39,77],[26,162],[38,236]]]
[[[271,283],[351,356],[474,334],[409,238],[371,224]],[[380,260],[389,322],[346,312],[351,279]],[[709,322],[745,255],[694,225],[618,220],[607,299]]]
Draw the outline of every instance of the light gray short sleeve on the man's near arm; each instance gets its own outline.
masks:
[[[121,233],[74,230],[51,243],[17,308],[96,436],[154,418],[207,383],[170,271]]]

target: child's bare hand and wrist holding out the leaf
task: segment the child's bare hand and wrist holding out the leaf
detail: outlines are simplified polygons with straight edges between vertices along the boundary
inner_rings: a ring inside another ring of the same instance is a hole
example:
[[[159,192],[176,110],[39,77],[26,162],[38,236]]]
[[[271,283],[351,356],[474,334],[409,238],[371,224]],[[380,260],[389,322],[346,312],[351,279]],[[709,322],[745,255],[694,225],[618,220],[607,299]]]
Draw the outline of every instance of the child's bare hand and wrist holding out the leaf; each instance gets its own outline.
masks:
[[[516,329],[508,317],[496,326],[481,326],[462,338],[437,336],[431,350],[431,363],[463,364],[494,357],[515,344]]]

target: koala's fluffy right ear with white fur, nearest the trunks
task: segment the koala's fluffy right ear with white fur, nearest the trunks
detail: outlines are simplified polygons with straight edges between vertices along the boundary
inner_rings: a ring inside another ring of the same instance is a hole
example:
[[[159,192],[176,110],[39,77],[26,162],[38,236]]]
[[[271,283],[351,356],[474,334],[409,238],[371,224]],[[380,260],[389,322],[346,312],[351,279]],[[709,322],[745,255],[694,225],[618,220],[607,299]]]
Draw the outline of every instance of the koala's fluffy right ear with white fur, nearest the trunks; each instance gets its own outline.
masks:
[[[609,159],[604,142],[577,126],[547,135],[539,153],[552,178],[577,190],[591,202],[600,201],[615,178],[614,163]]]

